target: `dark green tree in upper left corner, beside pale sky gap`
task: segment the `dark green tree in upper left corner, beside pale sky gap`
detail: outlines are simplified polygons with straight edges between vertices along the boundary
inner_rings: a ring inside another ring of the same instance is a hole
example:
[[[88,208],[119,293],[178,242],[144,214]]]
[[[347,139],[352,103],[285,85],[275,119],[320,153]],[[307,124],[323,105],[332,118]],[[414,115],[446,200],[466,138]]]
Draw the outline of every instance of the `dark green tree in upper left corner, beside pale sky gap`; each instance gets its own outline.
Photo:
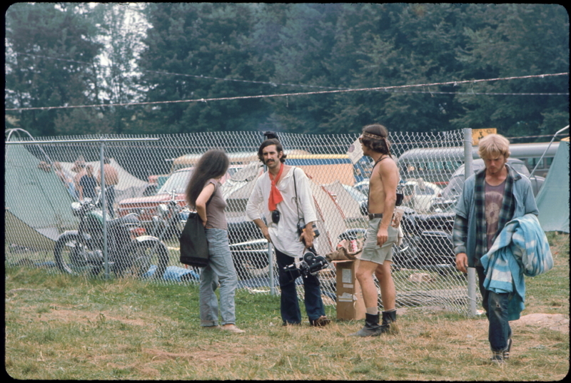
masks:
[[[70,4],[19,3],[6,11],[6,108],[35,108],[94,101],[94,73],[101,44],[85,14]],[[33,136],[53,136],[68,110],[7,113]],[[78,132],[78,133],[81,133]]]

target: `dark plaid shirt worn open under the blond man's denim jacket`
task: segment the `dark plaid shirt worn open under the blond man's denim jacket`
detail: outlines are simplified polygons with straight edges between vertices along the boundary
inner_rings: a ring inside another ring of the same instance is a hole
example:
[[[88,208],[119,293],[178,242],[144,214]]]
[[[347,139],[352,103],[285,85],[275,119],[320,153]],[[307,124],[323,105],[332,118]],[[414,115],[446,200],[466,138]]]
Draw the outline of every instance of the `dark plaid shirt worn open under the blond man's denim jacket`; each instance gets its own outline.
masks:
[[[514,180],[520,175],[513,170],[510,165],[507,166],[507,178],[505,179],[504,196],[502,200],[502,208],[498,217],[497,232],[494,235],[494,240],[497,235],[502,231],[505,224],[509,222],[515,211],[515,198],[513,197],[513,183]],[[487,237],[486,237],[486,220],[485,220],[485,168],[480,170],[475,175],[474,185],[474,204],[476,214],[476,248],[475,260],[476,266],[482,266],[480,258],[487,252]],[[456,249],[456,254],[459,252],[466,252],[466,239],[468,237],[468,219],[460,215],[456,215],[454,219],[453,228],[453,244]]]

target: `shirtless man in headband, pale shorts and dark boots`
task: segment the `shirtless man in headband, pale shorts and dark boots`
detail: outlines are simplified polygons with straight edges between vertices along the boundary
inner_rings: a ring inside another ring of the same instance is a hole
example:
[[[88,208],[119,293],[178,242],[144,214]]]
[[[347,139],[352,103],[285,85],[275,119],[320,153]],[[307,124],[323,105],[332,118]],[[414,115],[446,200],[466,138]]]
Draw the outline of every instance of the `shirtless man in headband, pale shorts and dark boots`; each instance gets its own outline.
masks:
[[[363,290],[365,301],[365,327],[351,334],[355,337],[376,337],[390,331],[396,322],[395,283],[390,274],[393,260],[393,244],[398,229],[393,228],[398,168],[390,155],[388,131],[382,125],[373,124],[363,128],[359,141],[363,154],[373,158],[375,165],[369,179],[369,228],[357,270],[357,280]],[[379,325],[378,292],[373,280],[376,275],[383,302],[383,322]]]

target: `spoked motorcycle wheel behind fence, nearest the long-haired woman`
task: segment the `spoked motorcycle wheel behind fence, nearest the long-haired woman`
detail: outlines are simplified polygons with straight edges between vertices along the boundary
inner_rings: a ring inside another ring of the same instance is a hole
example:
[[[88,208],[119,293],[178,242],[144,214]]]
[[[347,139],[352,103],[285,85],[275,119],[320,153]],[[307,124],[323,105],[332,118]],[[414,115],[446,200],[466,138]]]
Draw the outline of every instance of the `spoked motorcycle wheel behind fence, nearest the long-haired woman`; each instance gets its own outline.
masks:
[[[143,241],[128,246],[116,261],[115,273],[120,277],[152,277],[162,279],[168,267],[168,249],[163,242]]]

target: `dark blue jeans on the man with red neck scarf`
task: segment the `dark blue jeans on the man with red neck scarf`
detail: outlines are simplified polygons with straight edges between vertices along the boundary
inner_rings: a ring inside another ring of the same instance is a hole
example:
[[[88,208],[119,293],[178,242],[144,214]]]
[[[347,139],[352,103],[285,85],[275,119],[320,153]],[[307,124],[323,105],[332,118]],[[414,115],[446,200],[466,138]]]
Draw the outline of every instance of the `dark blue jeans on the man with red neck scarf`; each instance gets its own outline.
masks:
[[[280,312],[281,319],[284,324],[301,323],[301,312],[298,302],[298,292],[295,289],[295,280],[289,272],[285,272],[283,267],[291,265],[295,259],[289,255],[283,254],[276,249],[276,262],[278,263],[278,275],[280,280]],[[305,312],[307,312],[310,320],[316,320],[320,316],[325,315],[325,307],[321,300],[321,288],[317,275],[308,275],[303,278],[303,290],[305,291]]]

